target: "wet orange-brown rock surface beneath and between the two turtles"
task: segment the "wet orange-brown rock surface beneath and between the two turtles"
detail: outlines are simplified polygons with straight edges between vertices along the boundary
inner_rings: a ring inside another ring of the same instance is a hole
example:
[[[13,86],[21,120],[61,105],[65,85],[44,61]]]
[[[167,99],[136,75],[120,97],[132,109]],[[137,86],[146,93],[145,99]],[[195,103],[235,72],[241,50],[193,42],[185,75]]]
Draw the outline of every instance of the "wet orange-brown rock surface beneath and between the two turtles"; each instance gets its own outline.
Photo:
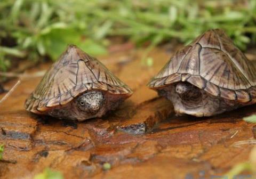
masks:
[[[153,67],[141,65],[141,54],[131,50],[99,58],[134,94],[118,110],[83,123],[25,111],[23,103],[41,78],[22,79],[0,104],[0,144],[5,145],[0,178],[33,178],[46,167],[65,178],[206,178],[246,161],[256,129],[242,118],[256,113],[256,105],[215,117],[177,117],[169,101],[145,86],[171,53],[153,51]]]

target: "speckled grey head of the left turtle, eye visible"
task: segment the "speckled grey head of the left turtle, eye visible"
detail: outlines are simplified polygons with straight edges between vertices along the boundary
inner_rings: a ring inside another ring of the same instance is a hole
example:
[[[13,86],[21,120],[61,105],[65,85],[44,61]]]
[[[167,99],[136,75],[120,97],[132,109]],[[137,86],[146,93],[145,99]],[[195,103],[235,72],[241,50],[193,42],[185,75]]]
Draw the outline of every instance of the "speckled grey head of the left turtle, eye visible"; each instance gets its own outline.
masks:
[[[100,111],[104,101],[105,97],[101,92],[89,91],[78,97],[77,105],[80,110],[95,115]]]

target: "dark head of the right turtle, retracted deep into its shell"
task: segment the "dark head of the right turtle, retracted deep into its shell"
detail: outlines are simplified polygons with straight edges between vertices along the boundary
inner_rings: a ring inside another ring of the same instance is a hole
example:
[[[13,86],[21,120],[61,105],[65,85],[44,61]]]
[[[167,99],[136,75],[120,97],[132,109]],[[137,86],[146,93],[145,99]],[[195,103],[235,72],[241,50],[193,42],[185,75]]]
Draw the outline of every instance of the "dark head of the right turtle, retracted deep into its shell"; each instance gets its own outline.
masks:
[[[197,101],[201,99],[201,90],[187,82],[179,82],[175,86],[175,92],[183,101]]]

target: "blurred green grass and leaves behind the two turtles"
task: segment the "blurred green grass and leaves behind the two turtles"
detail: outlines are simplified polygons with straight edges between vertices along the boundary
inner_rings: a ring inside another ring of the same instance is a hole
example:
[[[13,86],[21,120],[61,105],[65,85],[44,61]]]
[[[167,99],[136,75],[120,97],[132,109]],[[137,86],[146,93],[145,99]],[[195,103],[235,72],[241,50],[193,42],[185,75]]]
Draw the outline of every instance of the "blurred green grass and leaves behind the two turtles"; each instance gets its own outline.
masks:
[[[255,0],[2,0],[0,69],[11,60],[56,60],[67,44],[106,53],[111,36],[151,46],[177,38],[189,43],[222,28],[245,50],[256,39]]]

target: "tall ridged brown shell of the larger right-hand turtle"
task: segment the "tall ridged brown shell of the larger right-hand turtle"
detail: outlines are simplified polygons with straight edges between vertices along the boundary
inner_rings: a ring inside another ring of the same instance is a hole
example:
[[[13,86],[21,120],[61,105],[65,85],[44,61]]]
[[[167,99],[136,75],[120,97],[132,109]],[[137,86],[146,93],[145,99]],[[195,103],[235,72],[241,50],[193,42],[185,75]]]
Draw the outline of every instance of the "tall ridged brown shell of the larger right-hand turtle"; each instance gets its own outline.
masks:
[[[177,51],[148,86],[189,82],[213,96],[256,102],[256,69],[223,30],[206,31]]]

